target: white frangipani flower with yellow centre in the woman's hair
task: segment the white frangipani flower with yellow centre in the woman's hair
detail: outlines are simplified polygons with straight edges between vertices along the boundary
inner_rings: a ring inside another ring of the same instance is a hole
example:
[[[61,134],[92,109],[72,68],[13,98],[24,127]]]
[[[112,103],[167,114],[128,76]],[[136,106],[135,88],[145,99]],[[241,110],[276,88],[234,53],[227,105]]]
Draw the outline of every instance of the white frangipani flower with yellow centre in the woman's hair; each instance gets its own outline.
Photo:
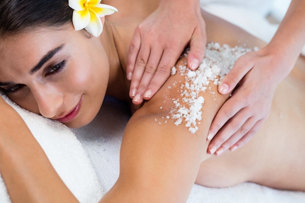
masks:
[[[117,12],[113,6],[101,4],[101,0],[69,0],[69,6],[74,9],[72,22],[75,30],[85,28],[93,36],[98,37],[103,31],[100,17]]]

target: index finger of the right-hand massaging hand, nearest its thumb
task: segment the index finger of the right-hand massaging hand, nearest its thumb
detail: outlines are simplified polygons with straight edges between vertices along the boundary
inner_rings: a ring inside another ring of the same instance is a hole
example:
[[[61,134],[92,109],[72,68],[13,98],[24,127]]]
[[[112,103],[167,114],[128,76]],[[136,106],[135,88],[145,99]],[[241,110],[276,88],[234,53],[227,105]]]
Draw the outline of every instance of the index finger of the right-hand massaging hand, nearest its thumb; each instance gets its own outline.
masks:
[[[239,94],[243,94],[243,92],[236,91],[236,93],[232,95],[219,109],[210,125],[207,140],[212,140],[214,135],[229,121],[230,118],[246,107],[246,101],[241,100]]]

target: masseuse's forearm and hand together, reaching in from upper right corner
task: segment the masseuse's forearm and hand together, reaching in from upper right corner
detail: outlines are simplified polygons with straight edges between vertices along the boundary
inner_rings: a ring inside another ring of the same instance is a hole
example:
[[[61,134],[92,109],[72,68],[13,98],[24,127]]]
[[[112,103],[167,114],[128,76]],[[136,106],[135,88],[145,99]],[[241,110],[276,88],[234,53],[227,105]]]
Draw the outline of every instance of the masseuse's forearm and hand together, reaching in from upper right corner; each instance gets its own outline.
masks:
[[[222,94],[236,90],[210,126],[210,153],[242,147],[267,119],[277,85],[293,69],[305,44],[304,10],[304,0],[292,0],[270,43],[240,57],[219,85]]]

